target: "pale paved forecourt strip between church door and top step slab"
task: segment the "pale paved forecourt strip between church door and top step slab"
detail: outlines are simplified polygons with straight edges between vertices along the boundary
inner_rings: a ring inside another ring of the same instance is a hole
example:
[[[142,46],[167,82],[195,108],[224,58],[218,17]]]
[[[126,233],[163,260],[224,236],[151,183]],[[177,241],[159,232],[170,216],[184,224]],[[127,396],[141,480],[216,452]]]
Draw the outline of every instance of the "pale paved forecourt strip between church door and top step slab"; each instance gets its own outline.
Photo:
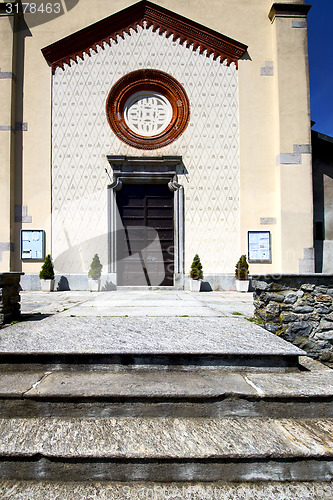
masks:
[[[252,317],[252,293],[179,290],[21,292],[23,314],[62,316]]]

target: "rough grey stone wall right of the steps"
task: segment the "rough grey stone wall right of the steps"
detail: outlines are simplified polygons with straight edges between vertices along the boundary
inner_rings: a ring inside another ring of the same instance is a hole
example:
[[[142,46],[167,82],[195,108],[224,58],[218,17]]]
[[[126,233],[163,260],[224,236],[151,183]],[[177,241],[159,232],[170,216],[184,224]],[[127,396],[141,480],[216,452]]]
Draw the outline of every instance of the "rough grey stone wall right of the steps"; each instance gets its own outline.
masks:
[[[255,317],[266,330],[333,363],[333,275],[252,278]]]

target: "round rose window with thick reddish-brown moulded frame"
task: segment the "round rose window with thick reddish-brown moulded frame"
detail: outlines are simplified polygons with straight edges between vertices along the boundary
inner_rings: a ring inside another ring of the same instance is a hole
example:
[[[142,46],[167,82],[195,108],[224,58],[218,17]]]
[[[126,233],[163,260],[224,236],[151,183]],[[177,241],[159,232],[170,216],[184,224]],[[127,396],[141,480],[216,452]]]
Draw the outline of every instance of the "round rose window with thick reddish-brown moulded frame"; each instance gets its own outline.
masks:
[[[190,107],[177,80],[162,71],[144,69],[118,80],[107,98],[106,113],[119,139],[138,149],[157,149],[184,132]]]

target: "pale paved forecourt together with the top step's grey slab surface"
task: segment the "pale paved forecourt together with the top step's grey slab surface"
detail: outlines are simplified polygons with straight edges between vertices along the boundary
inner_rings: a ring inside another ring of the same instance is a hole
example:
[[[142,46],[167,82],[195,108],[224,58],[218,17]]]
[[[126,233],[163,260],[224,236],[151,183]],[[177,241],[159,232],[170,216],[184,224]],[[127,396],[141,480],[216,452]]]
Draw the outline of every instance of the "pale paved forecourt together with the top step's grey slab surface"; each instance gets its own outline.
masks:
[[[252,294],[23,292],[22,313],[1,330],[1,354],[261,356],[272,365],[305,354],[248,321]]]

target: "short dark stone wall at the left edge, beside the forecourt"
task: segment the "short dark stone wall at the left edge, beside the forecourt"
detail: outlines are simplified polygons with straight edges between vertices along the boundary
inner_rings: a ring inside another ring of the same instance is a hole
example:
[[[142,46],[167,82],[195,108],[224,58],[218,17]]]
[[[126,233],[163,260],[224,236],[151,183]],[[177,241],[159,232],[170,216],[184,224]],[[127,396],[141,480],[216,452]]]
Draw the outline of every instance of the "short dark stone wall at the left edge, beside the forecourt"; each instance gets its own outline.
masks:
[[[0,273],[0,325],[20,316],[20,278],[24,273]]]

